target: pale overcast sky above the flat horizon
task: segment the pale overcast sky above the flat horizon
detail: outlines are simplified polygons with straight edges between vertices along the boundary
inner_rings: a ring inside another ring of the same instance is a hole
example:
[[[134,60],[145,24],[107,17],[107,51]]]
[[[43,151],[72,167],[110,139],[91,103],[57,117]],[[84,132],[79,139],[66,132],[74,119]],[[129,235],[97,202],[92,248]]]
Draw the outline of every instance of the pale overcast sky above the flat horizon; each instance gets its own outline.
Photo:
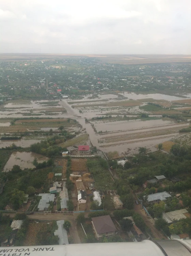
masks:
[[[1,53],[191,54],[191,0],[0,0]]]

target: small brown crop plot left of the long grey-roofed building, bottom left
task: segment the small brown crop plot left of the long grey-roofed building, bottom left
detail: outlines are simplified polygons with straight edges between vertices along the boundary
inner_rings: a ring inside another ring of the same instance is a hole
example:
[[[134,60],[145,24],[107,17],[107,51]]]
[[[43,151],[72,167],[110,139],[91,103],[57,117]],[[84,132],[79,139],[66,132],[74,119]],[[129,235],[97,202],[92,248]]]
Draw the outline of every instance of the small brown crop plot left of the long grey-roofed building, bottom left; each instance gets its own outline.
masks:
[[[30,222],[28,231],[26,234],[26,239],[24,241],[25,246],[33,246],[36,245],[36,236],[39,231],[46,232],[46,222]]]

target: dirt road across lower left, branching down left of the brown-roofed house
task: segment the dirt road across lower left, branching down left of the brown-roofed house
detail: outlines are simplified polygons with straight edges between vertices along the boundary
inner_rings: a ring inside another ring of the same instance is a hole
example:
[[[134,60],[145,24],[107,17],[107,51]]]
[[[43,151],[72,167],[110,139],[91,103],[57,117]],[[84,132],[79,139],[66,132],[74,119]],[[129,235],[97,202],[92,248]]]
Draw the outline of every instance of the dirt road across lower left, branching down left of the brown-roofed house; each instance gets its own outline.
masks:
[[[9,214],[10,217],[14,217],[15,214]],[[80,238],[79,238],[79,234],[77,231],[77,227],[76,227],[76,223],[75,223],[75,219],[77,217],[78,214],[75,215],[67,215],[67,214],[63,214],[63,213],[42,213],[42,214],[38,214],[38,213],[34,213],[32,215],[28,215],[29,219],[34,219],[34,220],[39,220],[39,221],[60,221],[60,220],[64,220],[64,221],[70,221],[71,222],[71,228],[70,228],[70,234],[73,238],[73,241],[75,244],[79,244],[81,243]]]

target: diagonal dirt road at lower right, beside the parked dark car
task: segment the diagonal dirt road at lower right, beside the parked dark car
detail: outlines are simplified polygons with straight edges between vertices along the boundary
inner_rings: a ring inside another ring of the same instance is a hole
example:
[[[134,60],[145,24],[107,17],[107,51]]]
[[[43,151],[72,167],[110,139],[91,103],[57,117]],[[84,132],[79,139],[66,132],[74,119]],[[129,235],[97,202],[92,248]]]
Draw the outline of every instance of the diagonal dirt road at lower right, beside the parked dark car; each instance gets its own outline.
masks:
[[[145,211],[141,209],[141,204],[134,204],[134,211],[142,216],[145,221],[145,224],[150,228],[153,236],[157,239],[167,239],[158,229],[155,228],[155,221],[146,215]]]

